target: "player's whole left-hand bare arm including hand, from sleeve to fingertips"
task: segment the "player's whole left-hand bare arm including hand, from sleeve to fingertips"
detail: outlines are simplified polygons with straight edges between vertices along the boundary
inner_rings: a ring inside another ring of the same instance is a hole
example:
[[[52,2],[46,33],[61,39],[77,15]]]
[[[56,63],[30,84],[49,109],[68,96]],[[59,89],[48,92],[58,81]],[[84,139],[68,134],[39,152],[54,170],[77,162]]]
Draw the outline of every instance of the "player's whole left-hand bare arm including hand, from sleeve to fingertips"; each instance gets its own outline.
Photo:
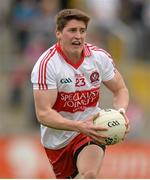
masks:
[[[107,129],[93,125],[93,120],[97,115],[91,116],[85,121],[66,119],[52,109],[56,98],[57,90],[34,90],[36,114],[41,124],[50,128],[81,132],[99,143],[105,143],[105,137],[100,136],[97,131],[104,131]]]

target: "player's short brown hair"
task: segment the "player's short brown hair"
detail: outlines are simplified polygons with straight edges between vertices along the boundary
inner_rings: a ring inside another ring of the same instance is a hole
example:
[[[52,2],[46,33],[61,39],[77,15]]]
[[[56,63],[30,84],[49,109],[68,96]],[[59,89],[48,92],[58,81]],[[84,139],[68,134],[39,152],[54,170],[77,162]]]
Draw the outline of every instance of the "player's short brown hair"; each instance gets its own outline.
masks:
[[[78,9],[63,9],[56,16],[56,30],[62,31],[67,22],[72,19],[83,21],[87,28],[90,17]]]

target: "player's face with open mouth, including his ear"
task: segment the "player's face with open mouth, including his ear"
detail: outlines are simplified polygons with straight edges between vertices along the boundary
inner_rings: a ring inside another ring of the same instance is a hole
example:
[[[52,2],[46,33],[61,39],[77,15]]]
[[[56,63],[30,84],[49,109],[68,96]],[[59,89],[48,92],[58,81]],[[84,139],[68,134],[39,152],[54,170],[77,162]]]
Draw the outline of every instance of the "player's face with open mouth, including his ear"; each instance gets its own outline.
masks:
[[[61,47],[66,53],[81,55],[86,37],[86,26],[83,21],[70,20],[62,32],[57,32],[56,36]]]

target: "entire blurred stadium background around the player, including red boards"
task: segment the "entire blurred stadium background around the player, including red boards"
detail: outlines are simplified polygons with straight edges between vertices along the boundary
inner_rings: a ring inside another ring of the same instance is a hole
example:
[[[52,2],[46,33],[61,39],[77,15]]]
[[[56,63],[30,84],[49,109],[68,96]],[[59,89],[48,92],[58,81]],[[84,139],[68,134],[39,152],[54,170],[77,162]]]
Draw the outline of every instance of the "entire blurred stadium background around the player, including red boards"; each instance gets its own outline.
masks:
[[[91,15],[87,41],[112,55],[130,91],[131,132],[107,149],[101,177],[150,178],[149,0],[0,0],[0,178],[50,177],[30,72],[55,42],[54,16],[66,7]],[[102,93],[101,105],[111,107]]]

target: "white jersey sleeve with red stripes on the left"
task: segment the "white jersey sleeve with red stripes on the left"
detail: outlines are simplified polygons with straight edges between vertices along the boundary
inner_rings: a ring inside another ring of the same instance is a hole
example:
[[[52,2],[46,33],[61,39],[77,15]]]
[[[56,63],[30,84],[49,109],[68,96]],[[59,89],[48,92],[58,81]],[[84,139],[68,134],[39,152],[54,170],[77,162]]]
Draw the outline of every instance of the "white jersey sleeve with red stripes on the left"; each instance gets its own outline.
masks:
[[[56,89],[56,72],[52,64],[52,61],[44,61],[40,58],[31,73],[31,82],[33,89],[37,90],[48,90]]]

